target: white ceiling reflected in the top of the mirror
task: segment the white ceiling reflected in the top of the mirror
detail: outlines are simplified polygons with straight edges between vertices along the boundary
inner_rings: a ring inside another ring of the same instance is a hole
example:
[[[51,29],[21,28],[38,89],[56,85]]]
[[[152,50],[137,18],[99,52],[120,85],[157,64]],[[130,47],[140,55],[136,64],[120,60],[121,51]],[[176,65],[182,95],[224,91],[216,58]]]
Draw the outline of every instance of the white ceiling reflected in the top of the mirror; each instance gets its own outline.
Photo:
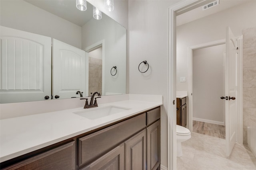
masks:
[[[68,20],[76,25],[83,26],[92,18],[92,5],[86,3],[87,10],[80,11],[76,8],[76,0],[25,0],[47,12]],[[104,15],[102,13],[102,15]]]

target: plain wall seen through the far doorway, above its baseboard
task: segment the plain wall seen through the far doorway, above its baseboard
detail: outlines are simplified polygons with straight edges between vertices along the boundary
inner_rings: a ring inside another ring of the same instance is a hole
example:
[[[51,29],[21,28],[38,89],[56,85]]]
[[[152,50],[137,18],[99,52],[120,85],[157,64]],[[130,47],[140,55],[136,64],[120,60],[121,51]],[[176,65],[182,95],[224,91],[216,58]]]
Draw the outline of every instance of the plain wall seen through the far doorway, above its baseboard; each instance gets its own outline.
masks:
[[[193,50],[193,117],[224,123],[225,44]]]

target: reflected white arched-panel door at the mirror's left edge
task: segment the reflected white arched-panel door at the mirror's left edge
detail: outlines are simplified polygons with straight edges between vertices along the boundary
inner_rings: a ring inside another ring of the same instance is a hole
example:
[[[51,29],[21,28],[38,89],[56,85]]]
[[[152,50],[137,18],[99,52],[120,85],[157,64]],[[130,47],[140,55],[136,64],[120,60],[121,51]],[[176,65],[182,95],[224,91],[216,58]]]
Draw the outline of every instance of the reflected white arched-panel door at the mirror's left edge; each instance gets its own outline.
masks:
[[[51,38],[0,28],[0,103],[51,96]]]

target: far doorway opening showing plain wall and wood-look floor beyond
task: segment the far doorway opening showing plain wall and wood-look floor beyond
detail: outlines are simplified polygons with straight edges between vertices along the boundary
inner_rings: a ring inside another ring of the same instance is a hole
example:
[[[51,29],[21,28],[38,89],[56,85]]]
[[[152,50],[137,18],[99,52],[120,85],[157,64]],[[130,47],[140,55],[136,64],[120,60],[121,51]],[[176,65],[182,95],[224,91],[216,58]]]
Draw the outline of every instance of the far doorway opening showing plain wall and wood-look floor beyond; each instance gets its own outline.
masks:
[[[225,139],[224,53],[226,45],[192,49],[192,131]],[[191,70],[189,70],[191,71]],[[191,121],[190,121],[191,122]]]

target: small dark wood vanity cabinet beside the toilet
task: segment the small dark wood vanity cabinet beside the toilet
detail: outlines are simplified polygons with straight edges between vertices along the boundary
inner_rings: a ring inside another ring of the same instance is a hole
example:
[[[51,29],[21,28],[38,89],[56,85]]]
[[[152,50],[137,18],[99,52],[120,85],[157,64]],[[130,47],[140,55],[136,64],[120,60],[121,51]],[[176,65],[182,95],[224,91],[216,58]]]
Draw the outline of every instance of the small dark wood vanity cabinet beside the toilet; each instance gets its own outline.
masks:
[[[186,104],[187,98],[176,98],[176,105],[177,105],[177,125],[186,127],[187,126],[187,104]]]

